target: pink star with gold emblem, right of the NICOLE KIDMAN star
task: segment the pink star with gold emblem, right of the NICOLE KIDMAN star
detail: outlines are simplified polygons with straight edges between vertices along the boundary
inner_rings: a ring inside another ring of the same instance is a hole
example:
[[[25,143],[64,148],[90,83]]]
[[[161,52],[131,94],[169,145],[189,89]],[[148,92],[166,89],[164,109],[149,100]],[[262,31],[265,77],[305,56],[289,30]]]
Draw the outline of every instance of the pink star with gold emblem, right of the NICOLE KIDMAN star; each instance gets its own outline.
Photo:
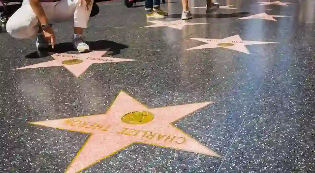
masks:
[[[226,37],[223,39],[208,39],[208,38],[191,38],[191,39],[198,40],[200,42],[206,42],[207,44],[197,46],[197,47],[192,47],[187,50],[223,47],[223,48],[232,49],[232,50],[236,50],[236,51],[247,53],[247,54],[249,54],[249,51],[245,47],[245,45],[275,43],[275,42],[246,41],[246,40],[242,40],[239,35],[234,35],[234,36]]]

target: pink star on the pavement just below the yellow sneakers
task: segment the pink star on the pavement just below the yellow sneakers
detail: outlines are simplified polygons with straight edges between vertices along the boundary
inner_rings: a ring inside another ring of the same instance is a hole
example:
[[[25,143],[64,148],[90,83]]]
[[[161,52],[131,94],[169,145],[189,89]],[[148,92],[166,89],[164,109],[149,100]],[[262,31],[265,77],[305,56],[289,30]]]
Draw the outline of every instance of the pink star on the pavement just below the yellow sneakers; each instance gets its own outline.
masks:
[[[191,23],[186,20],[173,20],[173,21],[162,21],[162,20],[149,20],[148,22],[154,23],[154,25],[143,26],[141,28],[150,28],[150,27],[162,27],[168,26],[178,30],[183,29],[185,25],[205,25],[207,23]]]

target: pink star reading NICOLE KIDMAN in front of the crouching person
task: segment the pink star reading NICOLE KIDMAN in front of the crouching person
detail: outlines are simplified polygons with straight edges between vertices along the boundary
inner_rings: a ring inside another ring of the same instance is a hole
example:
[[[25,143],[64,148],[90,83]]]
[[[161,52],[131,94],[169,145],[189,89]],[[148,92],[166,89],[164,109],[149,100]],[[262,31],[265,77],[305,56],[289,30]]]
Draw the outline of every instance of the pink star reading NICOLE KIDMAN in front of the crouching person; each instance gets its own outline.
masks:
[[[93,51],[93,52],[82,53],[82,54],[55,53],[51,55],[55,60],[47,61],[47,62],[43,62],[39,64],[33,64],[33,65],[17,68],[14,70],[64,66],[76,77],[79,77],[85,70],[89,68],[90,65],[95,64],[95,63],[137,61],[135,59],[102,57],[102,55],[104,55],[105,53],[106,51]]]

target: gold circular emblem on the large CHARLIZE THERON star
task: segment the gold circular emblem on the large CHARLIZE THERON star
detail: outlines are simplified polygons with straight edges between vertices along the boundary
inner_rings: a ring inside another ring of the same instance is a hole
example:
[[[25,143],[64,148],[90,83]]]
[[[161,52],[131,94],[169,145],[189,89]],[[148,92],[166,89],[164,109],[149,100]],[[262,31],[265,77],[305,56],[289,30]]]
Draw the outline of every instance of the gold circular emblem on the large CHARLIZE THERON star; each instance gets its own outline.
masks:
[[[144,111],[130,112],[123,115],[121,120],[127,124],[145,124],[152,121],[153,114]]]

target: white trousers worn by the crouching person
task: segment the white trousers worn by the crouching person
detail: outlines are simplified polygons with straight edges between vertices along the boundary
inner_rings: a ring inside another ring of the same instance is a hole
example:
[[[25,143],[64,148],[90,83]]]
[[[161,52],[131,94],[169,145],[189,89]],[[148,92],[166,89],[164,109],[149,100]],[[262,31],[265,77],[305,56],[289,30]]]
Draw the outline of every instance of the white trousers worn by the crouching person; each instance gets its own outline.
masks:
[[[61,23],[67,20],[74,20],[74,26],[87,28],[93,0],[90,7],[86,8],[85,0],[60,0],[51,3],[41,3],[49,23]],[[32,38],[38,32],[37,17],[28,0],[22,3],[8,20],[7,32],[20,39]]]

